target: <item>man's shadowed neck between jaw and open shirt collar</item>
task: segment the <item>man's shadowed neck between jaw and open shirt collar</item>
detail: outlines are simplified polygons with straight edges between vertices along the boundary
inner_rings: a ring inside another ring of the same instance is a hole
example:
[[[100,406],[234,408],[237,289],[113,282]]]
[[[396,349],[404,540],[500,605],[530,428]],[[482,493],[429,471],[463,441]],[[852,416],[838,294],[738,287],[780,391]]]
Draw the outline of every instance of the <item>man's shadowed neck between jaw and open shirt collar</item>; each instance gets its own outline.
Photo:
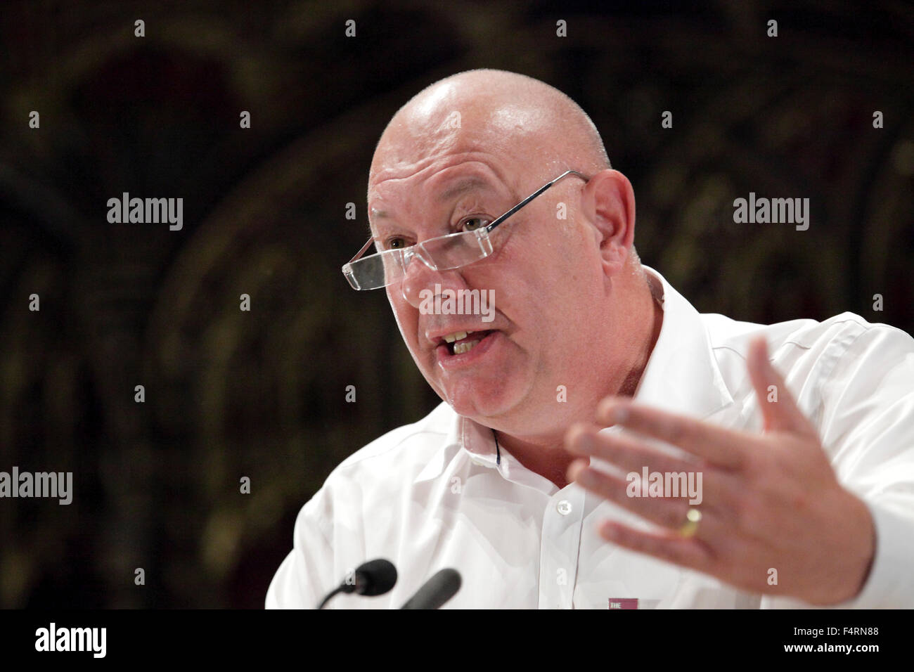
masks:
[[[606,372],[604,379],[607,383],[604,386],[594,389],[588,399],[580,400],[575,406],[569,407],[569,412],[562,417],[558,426],[548,432],[523,435],[518,432],[493,430],[496,441],[505,451],[511,453],[527,469],[557,485],[559,489],[568,485],[566,471],[575,459],[565,450],[565,432],[575,422],[593,422],[597,405],[605,397],[634,396],[644,368],[647,367],[648,359],[654,351],[657,337],[660,336],[664,311],[655,299],[652,287],[642,284],[633,294],[632,305],[620,314],[643,315],[643,319],[638,321],[635,328],[632,328],[631,322],[625,321],[627,339],[622,339],[622,335],[610,335],[611,340],[608,342],[624,343],[626,347],[619,349],[619,357],[612,363],[611,370]],[[613,324],[619,322],[612,321]],[[617,372],[616,375],[613,375],[613,372]]]

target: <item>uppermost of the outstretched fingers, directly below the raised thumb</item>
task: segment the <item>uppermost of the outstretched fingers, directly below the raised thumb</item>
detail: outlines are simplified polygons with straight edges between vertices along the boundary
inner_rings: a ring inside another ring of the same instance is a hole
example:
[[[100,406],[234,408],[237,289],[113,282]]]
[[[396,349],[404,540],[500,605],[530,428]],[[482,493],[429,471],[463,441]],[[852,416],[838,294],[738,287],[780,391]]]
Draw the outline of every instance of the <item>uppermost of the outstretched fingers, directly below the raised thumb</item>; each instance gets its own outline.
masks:
[[[739,469],[746,463],[749,443],[753,440],[750,434],[632,404],[618,397],[600,402],[597,419],[679,446],[726,469]]]

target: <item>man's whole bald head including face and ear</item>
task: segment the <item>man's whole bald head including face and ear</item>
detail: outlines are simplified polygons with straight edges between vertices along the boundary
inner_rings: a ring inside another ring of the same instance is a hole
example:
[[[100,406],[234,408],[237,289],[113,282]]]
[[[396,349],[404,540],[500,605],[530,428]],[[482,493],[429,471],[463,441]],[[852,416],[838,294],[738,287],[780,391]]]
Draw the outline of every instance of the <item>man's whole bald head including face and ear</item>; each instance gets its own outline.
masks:
[[[587,178],[555,181],[569,169]],[[549,182],[511,223],[485,226]],[[381,135],[367,205],[377,250],[404,251],[384,258],[403,271],[385,285],[400,333],[459,414],[558,445],[569,420],[592,418],[602,397],[628,385],[655,315],[633,256],[634,194],[564,93],[502,70],[435,82]],[[473,230],[482,235],[452,238]],[[482,240],[489,253],[472,261]],[[491,321],[428,305],[466,291],[494,297]],[[461,333],[472,348],[458,352],[446,336]],[[570,380],[580,393],[558,404],[558,418],[556,386]]]

